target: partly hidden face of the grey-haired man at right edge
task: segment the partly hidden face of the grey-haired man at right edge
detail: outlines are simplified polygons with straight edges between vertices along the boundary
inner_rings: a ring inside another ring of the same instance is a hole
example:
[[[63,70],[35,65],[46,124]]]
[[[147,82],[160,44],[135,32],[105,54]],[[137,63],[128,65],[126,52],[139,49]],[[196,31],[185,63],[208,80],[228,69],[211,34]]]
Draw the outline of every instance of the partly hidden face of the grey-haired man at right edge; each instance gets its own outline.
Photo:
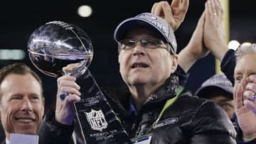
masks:
[[[247,54],[240,58],[235,65],[235,87],[234,94],[237,92],[240,82],[252,74],[256,74],[256,54]]]

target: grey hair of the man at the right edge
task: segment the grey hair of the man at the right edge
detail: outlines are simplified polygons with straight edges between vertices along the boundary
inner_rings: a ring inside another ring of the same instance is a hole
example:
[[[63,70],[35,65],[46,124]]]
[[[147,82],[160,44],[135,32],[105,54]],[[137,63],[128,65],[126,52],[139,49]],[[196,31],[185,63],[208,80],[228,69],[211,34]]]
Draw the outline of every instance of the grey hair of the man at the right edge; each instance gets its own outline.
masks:
[[[247,54],[256,54],[256,43],[242,43],[235,52],[236,61]]]

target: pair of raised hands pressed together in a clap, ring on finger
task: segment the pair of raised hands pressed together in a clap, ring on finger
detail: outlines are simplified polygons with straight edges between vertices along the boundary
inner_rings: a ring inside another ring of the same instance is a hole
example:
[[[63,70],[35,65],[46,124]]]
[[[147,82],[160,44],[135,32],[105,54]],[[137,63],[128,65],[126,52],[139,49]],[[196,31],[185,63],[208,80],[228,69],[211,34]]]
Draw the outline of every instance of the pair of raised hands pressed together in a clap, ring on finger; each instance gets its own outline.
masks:
[[[219,60],[223,58],[228,51],[228,45],[225,43],[223,22],[223,9],[220,1],[206,1],[206,9],[198,21],[198,25],[183,50],[179,53],[178,64],[186,72],[192,67],[198,59],[208,55],[209,50]]]

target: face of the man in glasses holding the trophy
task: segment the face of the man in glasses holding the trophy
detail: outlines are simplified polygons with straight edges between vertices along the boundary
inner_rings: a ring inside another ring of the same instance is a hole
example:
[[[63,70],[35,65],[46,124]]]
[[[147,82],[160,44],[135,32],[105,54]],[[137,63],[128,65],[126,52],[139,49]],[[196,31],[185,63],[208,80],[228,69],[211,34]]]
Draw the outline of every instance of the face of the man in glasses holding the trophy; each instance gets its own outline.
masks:
[[[156,38],[153,35],[154,33],[147,29],[137,28],[129,31],[124,39]],[[135,48],[119,52],[119,71],[128,86],[154,86],[163,84],[176,70],[177,59],[176,55],[171,56],[164,48],[144,48],[142,43],[138,42]]]

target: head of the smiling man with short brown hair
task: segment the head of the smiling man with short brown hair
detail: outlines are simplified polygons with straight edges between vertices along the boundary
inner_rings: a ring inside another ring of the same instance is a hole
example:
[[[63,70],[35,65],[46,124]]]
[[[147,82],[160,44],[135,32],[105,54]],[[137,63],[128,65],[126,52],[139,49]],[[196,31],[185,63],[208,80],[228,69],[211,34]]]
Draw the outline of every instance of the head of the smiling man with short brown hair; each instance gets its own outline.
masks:
[[[0,116],[10,133],[35,134],[44,112],[42,89],[31,74],[8,74],[0,85]]]

